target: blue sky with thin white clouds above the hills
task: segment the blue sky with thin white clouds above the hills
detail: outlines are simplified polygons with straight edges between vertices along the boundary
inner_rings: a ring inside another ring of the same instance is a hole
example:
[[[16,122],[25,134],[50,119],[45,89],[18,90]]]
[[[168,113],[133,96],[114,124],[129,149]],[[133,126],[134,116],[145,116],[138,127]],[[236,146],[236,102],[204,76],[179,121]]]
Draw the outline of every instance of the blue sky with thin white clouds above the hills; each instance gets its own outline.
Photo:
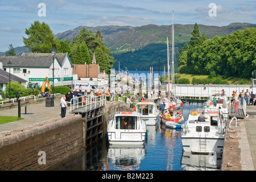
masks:
[[[24,46],[35,20],[53,34],[78,26],[256,23],[255,0],[0,0],[0,52]]]

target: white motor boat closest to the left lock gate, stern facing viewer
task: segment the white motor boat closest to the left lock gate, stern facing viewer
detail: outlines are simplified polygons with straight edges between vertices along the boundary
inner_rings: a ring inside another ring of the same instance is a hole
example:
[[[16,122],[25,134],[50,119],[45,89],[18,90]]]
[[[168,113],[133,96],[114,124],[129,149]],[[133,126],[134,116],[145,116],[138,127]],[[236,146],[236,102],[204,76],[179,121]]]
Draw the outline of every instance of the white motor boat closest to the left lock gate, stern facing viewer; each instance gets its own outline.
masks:
[[[146,123],[135,111],[115,113],[107,131],[110,145],[143,145],[146,140]]]

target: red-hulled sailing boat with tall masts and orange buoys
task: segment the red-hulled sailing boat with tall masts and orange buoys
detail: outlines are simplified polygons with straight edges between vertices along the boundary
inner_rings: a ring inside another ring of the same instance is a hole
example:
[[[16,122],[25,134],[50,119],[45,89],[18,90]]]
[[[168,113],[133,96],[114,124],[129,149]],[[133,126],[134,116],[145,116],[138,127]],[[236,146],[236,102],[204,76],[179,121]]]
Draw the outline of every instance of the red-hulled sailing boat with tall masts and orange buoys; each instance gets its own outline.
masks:
[[[181,123],[183,121],[183,102],[179,100],[179,98],[175,97],[175,94],[170,91],[170,64],[169,64],[169,46],[168,46],[168,38],[167,38],[167,68],[168,68],[168,85],[167,85],[167,98],[164,99],[166,102],[166,109],[164,113],[161,115],[161,122],[166,124],[168,127],[172,128],[180,128],[180,125],[177,123]],[[174,90],[174,11],[172,14],[172,88]],[[167,101],[166,101],[167,100]]]

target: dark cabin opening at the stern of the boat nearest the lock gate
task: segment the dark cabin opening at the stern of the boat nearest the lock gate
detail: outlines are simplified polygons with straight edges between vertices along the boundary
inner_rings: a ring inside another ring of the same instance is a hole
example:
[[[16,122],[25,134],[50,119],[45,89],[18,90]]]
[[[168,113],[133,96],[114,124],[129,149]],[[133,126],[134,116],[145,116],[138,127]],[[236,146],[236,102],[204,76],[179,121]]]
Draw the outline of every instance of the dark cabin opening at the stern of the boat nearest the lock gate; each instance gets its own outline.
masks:
[[[118,130],[135,130],[137,125],[137,117],[123,117],[119,116],[115,118],[115,129]]]

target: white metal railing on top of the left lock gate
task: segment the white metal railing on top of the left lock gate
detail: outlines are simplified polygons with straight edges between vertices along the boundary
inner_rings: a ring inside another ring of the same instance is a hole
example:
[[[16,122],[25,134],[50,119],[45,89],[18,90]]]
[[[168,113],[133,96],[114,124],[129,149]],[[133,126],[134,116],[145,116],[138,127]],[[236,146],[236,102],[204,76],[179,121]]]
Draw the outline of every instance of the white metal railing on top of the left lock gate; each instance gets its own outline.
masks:
[[[81,98],[81,101],[79,102],[79,98]],[[75,100],[77,99],[77,102],[75,104]],[[87,98],[85,96],[80,96],[77,98],[71,98],[70,100],[70,111],[74,109],[79,109],[79,107],[85,107],[85,110],[89,107],[90,110],[95,109],[97,104],[100,104],[100,106],[103,106],[106,104],[106,94],[102,94],[100,96],[94,96],[93,94],[87,95]],[[73,104],[72,104],[73,103]],[[94,105],[94,106],[93,106]]]

